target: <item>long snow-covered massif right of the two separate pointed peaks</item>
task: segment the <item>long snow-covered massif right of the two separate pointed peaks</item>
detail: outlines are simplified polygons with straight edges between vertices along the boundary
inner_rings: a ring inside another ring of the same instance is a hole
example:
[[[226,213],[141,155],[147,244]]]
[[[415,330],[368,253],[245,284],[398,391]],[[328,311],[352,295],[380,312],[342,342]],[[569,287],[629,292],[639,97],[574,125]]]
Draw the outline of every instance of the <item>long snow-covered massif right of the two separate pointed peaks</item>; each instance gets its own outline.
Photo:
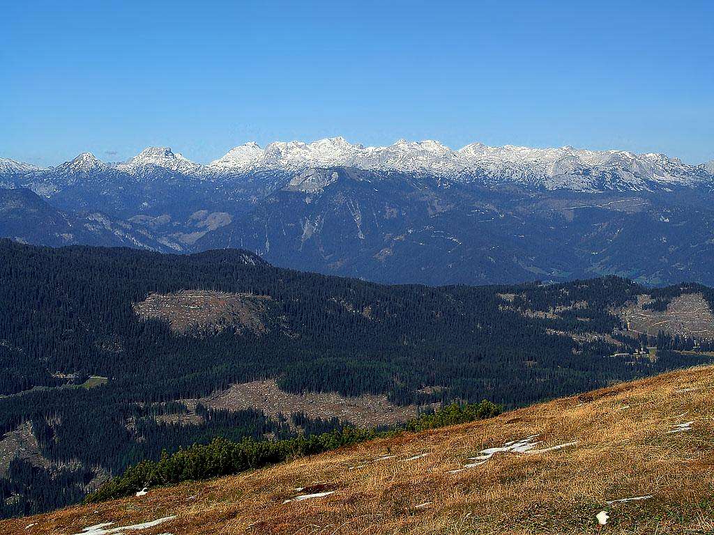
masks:
[[[546,189],[598,188],[641,190],[648,183],[694,185],[711,180],[711,170],[686,165],[663,154],[588,151],[573,147],[490,147],[471,143],[458,151],[438,141],[400,140],[386,147],[353,145],[344,138],[313,143],[246,143],[209,163],[213,172],[309,167],[354,167],[365,170],[427,173],[443,178],[515,182]]]

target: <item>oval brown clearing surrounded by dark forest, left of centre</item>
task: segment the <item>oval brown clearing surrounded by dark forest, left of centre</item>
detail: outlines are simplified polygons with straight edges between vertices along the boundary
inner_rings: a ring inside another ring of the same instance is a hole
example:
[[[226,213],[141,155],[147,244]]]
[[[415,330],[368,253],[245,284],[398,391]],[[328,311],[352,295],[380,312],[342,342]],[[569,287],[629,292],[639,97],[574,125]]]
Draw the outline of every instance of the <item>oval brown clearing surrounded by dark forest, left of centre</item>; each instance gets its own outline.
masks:
[[[273,300],[248,293],[181,290],[169,294],[152,293],[134,304],[144,320],[162,320],[175,332],[191,330],[221,332],[227,327],[266,332],[266,316]]]

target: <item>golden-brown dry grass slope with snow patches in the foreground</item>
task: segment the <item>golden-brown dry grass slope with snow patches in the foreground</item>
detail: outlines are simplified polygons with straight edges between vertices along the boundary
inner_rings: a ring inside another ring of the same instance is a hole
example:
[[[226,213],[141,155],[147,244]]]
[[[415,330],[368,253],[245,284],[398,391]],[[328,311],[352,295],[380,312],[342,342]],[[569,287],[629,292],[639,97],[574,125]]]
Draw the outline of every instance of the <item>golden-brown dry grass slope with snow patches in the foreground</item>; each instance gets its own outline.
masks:
[[[100,522],[116,527],[177,515],[136,533],[586,534],[599,531],[595,515],[606,510],[605,533],[710,534],[713,389],[714,367],[673,372],[481,422],[152,489],[140,498],[0,521],[0,533],[74,534]],[[695,420],[690,432],[668,434],[689,420]],[[578,444],[496,454],[482,466],[448,474],[483,448],[532,434],[540,434],[543,447]],[[406,460],[421,453],[428,455]],[[386,454],[396,457],[374,460]],[[295,487],[318,482],[335,493],[283,504],[299,494]],[[643,494],[654,498],[605,503]],[[425,502],[433,503],[416,508]],[[28,524],[36,525],[25,529]]]

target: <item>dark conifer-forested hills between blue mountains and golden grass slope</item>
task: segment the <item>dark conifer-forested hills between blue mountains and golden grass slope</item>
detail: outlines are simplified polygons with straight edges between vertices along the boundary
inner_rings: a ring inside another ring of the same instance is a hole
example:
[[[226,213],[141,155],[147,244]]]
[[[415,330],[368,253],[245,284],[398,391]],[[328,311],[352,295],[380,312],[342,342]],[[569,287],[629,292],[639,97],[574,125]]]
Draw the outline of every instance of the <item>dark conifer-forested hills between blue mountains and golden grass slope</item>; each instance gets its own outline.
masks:
[[[340,425],[290,407],[273,418],[183,402],[231,384],[274,378],[296,393],[515,407],[710,361],[704,338],[628,332],[617,311],[649,290],[616,277],[383,286],[276,268],[241,250],[9,240],[0,258],[1,430],[6,444],[22,433],[36,441],[34,454],[0,459],[4,515],[74,502],[161,449]],[[711,290],[687,285],[658,290],[653,306],[693,292],[712,302]]]

